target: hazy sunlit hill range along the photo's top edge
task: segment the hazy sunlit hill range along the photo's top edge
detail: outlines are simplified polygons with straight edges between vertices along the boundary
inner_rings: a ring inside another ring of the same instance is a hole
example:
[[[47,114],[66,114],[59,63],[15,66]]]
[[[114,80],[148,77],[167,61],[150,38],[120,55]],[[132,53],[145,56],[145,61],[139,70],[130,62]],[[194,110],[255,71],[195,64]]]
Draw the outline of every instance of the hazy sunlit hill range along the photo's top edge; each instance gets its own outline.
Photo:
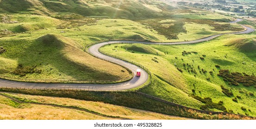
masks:
[[[0,12],[40,15],[71,12],[109,18],[154,18],[173,9],[177,7],[156,0],[0,0]]]

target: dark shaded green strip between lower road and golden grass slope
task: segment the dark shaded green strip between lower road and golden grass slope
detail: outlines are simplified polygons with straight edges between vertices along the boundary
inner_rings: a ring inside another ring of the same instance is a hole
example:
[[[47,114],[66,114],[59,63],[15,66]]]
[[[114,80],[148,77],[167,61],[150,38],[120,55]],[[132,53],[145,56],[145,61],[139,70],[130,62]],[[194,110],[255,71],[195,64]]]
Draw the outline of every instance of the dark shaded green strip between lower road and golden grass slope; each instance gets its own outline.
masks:
[[[88,91],[25,90],[25,89],[0,89],[0,91],[14,92],[14,93],[20,93],[20,94],[64,97],[64,98],[72,98],[77,100],[89,100],[89,101],[96,101],[98,103],[104,102],[106,104],[126,106],[130,108],[153,111],[153,112],[162,113],[162,114],[197,118],[197,119],[251,119],[249,117],[239,117],[236,115],[228,115],[228,116],[208,115],[208,114],[199,113],[193,110],[184,110],[176,106],[171,106],[156,100],[152,100],[150,98],[144,97],[134,92],[88,92]],[[50,99],[48,99],[47,101],[49,100]],[[28,99],[25,101],[31,101],[31,99]],[[56,101],[56,100],[53,100],[53,101]],[[69,105],[69,104],[66,103],[66,105]],[[100,111],[102,111],[102,109]]]

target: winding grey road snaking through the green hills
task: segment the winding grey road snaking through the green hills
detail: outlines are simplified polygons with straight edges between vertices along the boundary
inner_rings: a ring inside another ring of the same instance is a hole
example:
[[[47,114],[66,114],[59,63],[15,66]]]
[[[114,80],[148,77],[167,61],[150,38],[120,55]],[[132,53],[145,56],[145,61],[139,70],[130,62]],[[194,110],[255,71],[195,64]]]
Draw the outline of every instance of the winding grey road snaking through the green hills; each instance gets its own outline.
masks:
[[[236,21],[233,21],[231,23],[237,23],[242,21],[242,19],[237,19]],[[248,34],[251,32],[254,32],[255,29],[252,29],[250,27],[243,26],[246,30],[241,32],[234,32],[230,34]],[[105,54],[102,54],[99,52],[99,48],[106,45],[106,44],[114,44],[114,43],[143,43],[143,44],[160,44],[160,45],[175,45],[175,44],[192,44],[192,43],[198,43],[202,41],[209,41],[213,38],[219,37],[224,34],[219,35],[212,35],[206,38],[202,38],[195,41],[184,41],[184,42],[167,42],[167,43],[157,43],[157,42],[142,42],[142,41],[106,41],[101,42],[98,44],[95,44],[89,48],[89,52],[94,54],[96,57],[100,59],[105,59],[110,62],[115,62],[116,64],[120,64],[128,69],[130,69],[134,75],[136,75],[136,70],[139,69],[138,66],[131,64],[129,62],[123,61],[121,59],[116,59],[110,56],[107,56]],[[86,89],[86,90],[101,90],[101,91],[111,91],[111,90],[125,90],[125,89],[131,89],[136,88],[138,86],[143,85],[148,80],[148,74],[146,71],[141,70],[142,74],[140,77],[134,76],[130,81],[128,82],[122,82],[122,83],[116,83],[116,84],[63,84],[63,83],[32,83],[32,82],[16,82],[16,81],[9,81],[0,79],[0,87],[8,87],[8,88],[62,88],[62,89]]]

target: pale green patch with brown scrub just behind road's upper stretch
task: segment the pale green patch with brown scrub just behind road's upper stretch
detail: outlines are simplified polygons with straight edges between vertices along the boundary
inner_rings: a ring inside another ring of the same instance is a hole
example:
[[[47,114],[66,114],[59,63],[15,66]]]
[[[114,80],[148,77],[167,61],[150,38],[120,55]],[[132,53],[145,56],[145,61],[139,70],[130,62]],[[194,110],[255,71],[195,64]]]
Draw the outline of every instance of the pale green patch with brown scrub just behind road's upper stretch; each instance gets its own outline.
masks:
[[[156,30],[158,34],[164,35],[167,38],[167,40],[163,39],[164,42],[192,41],[209,35],[244,30],[244,28],[238,24],[226,23],[225,17],[221,18],[223,21],[221,19],[217,21],[222,22],[215,22],[216,19],[214,19],[214,17],[211,20],[203,18],[174,18],[146,19],[138,20],[138,22],[148,25],[150,31],[154,32],[154,30]]]

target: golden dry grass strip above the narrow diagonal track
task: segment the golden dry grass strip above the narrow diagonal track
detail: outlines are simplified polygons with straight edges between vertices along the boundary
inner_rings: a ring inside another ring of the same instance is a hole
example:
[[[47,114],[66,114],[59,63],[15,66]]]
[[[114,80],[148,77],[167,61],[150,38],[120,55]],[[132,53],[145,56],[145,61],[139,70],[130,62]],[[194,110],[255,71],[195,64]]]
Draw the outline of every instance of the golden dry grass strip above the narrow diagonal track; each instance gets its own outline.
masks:
[[[119,117],[124,117],[129,119],[188,119],[184,117],[174,117],[174,116],[163,115],[160,113],[155,113],[150,111],[131,109],[123,106],[115,106],[111,104],[105,104],[103,102],[93,102],[93,101],[84,101],[84,100],[74,100],[74,99],[68,99],[68,98],[45,97],[45,96],[34,96],[34,95],[24,95],[24,94],[7,94],[7,95],[18,98],[19,100],[24,100],[24,101],[56,104],[56,105],[62,105],[62,106],[76,106],[76,107],[85,108],[91,111],[96,111],[109,116],[119,116]],[[43,110],[44,108],[41,108],[41,109]],[[45,110],[48,110],[48,109],[45,108]],[[69,117],[69,119],[76,119],[76,118]],[[95,119],[100,119],[100,118],[95,117]]]

